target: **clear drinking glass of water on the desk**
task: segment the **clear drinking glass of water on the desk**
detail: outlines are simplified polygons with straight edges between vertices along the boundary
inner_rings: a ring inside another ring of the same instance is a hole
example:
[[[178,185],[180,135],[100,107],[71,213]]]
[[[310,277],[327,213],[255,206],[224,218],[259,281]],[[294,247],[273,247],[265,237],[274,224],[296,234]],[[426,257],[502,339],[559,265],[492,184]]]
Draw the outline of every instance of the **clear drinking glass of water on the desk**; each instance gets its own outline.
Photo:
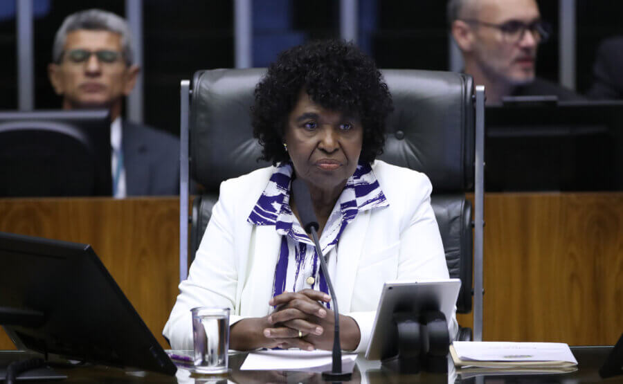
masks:
[[[227,372],[229,309],[199,307],[192,313],[195,371],[201,374]]]

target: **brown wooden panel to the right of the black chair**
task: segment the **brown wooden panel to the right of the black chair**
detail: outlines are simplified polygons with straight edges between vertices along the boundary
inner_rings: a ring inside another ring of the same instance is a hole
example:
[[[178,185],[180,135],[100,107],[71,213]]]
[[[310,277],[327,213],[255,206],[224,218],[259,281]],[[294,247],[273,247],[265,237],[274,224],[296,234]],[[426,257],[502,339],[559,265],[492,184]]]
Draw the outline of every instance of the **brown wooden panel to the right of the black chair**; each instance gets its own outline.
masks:
[[[613,345],[623,332],[623,193],[488,194],[487,340]]]

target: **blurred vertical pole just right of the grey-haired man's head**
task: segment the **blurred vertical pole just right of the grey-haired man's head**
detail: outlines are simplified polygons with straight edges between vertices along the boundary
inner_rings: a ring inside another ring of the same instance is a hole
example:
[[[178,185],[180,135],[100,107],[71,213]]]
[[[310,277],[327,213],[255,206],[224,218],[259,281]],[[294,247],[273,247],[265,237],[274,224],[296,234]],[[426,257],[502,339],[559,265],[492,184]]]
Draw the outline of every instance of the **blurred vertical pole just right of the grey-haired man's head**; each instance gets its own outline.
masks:
[[[141,68],[132,93],[126,100],[127,118],[143,122],[143,0],[126,0],[125,15],[134,43],[134,64]]]

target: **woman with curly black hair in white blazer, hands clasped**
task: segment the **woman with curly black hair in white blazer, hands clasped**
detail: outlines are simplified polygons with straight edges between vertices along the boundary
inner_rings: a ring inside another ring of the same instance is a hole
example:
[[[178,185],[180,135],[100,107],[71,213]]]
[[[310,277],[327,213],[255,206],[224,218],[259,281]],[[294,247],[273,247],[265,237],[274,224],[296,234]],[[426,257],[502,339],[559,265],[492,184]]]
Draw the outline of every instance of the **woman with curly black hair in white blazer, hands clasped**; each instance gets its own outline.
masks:
[[[233,349],[332,349],[334,315],[300,227],[295,178],[320,224],[343,349],[365,351],[384,282],[449,277],[430,181],[374,160],[391,110],[381,73],[352,44],[297,46],[271,64],[252,113],[273,167],[222,183],[163,331],[174,349],[192,349],[195,307],[231,309]],[[458,329],[454,317],[449,328]]]

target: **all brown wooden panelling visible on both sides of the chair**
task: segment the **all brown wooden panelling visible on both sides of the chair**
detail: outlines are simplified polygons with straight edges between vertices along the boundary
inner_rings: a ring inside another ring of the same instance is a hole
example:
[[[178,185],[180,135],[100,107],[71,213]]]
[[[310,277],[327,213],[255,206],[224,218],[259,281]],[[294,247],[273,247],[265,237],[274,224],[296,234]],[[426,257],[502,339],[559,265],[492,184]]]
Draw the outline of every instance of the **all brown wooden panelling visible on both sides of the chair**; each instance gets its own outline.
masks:
[[[0,199],[0,231],[89,243],[164,347],[179,201]],[[613,345],[623,331],[623,193],[485,196],[485,340]],[[471,326],[472,315],[459,315]],[[0,331],[0,349],[13,345]]]

